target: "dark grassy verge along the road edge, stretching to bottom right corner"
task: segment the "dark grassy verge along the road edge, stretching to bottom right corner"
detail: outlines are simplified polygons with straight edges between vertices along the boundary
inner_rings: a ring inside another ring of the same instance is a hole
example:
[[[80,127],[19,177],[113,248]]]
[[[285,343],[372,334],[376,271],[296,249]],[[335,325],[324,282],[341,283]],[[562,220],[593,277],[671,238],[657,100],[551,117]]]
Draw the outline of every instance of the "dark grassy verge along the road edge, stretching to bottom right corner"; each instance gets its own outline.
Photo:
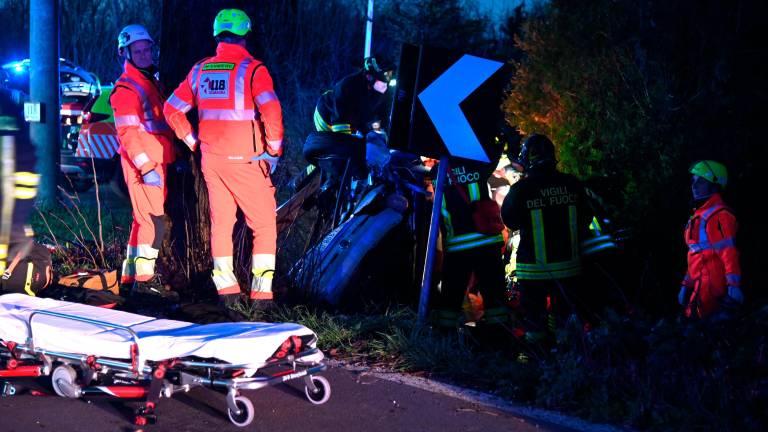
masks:
[[[307,306],[244,312],[303,324],[326,354],[351,364],[426,375],[591,421],[643,430],[768,425],[768,307],[716,325],[609,313],[587,335],[562,329],[557,349],[538,358],[513,338],[502,351],[463,330],[436,332],[407,307],[379,315]],[[530,360],[517,361],[517,352]]]

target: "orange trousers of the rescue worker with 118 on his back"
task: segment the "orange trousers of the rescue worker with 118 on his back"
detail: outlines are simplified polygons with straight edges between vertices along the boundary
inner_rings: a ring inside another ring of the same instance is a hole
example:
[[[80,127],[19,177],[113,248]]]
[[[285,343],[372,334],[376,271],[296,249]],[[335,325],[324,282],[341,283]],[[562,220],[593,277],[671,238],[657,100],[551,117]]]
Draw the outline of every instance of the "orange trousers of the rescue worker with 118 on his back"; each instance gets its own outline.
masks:
[[[213,281],[220,295],[239,294],[233,267],[232,230],[237,208],[253,231],[250,298],[272,299],[277,243],[275,187],[265,162],[233,162],[204,153],[202,171],[211,215]]]

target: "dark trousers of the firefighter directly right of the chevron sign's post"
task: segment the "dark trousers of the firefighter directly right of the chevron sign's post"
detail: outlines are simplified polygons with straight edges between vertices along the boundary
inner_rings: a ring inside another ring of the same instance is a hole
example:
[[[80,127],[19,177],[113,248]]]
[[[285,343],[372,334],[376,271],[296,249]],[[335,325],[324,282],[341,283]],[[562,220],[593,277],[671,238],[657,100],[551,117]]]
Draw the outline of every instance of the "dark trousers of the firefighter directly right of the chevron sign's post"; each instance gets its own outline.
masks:
[[[441,292],[435,299],[436,308],[460,312],[473,272],[485,309],[503,306],[504,263],[501,244],[494,244],[445,254]]]

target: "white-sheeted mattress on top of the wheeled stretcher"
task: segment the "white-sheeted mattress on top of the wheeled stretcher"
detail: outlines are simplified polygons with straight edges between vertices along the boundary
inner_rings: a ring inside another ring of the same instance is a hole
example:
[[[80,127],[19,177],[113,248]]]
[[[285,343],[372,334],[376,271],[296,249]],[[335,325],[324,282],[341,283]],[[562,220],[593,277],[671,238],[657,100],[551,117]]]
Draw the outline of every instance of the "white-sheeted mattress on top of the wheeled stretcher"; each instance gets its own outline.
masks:
[[[258,367],[288,337],[314,335],[310,329],[292,323],[198,325],[23,294],[6,294],[0,296],[0,339],[26,344],[27,323],[36,310],[130,327],[138,336],[142,363],[197,356]],[[134,342],[125,330],[42,314],[33,317],[32,333],[36,348],[115,359],[130,359]]]

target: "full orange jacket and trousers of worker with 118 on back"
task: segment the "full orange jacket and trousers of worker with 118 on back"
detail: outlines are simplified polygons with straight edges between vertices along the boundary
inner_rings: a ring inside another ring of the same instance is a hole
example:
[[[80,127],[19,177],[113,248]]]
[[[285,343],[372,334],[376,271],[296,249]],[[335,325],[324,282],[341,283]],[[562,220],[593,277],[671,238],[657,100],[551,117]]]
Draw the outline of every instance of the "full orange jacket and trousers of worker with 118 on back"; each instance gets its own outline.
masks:
[[[237,208],[253,230],[251,299],[272,299],[275,271],[275,188],[266,161],[282,153],[283,116],[272,77],[236,44],[219,43],[216,56],[198,62],[165,103],[168,124],[194,150],[186,113],[197,107],[202,171],[211,209],[213,281],[220,295],[237,294],[232,229]]]

